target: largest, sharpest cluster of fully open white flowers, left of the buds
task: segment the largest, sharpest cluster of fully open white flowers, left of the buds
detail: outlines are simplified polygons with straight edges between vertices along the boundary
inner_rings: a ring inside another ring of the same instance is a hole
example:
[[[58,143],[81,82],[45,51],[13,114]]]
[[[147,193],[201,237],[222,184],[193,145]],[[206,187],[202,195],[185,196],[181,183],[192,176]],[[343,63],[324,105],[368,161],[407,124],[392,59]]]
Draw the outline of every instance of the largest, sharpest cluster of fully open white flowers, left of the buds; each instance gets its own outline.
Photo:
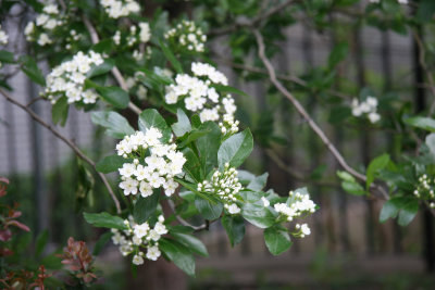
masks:
[[[134,159],[133,163],[124,163],[119,169],[122,179],[120,188],[125,196],[140,192],[146,198],[152,194],[153,188],[160,187],[163,187],[167,197],[175,192],[178,184],[174,176],[183,172],[186,159],[176,151],[176,144],[163,144],[160,138],[162,133],[151,127],[145,134],[136,131],[124,137],[116,144],[119,155]]]

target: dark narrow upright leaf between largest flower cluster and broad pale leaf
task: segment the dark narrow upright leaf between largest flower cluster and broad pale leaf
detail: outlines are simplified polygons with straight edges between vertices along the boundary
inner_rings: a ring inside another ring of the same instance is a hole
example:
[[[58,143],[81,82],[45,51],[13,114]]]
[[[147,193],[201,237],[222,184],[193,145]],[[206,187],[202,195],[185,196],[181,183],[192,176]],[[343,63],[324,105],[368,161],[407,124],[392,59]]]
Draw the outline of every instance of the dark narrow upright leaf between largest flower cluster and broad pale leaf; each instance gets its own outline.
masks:
[[[199,151],[199,161],[202,171],[207,176],[214,167],[217,166],[217,150],[221,144],[221,129],[213,122],[206,122],[200,127],[200,130],[209,130],[206,136],[197,139],[197,148]]]

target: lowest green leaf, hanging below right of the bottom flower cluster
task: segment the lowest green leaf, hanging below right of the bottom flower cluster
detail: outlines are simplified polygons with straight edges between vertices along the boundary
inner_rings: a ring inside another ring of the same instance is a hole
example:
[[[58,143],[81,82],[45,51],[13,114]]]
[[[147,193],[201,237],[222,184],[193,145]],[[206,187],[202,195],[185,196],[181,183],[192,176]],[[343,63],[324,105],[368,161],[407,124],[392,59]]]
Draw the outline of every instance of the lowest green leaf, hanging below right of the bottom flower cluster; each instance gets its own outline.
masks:
[[[159,249],[187,275],[195,276],[194,256],[184,244],[175,240],[162,238],[159,240]]]

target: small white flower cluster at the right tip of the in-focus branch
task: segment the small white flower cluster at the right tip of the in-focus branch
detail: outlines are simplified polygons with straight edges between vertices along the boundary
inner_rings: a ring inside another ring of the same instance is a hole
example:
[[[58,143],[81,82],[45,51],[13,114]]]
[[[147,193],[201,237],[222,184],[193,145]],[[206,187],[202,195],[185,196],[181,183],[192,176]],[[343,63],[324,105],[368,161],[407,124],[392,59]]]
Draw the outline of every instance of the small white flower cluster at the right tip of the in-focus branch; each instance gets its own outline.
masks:
[[[308,194],[290,191],[289,196],[290,199],[293,199],[290,204],[275,203],[273,205],[275,211],[284,215],[288,222],[291,222],[294,218],[299,217],[304,213],[315,212],[315,203],[310,200]]]

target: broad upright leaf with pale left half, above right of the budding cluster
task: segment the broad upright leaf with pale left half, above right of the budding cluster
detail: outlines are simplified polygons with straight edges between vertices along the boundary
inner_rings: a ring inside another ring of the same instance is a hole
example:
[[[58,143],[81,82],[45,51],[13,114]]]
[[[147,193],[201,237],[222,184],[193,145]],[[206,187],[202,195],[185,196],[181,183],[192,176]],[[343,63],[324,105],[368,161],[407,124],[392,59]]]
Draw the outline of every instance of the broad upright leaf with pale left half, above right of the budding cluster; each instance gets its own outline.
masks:
[[[252,148],[253,139],[249,129],[233,135],[219,148],[219,167],[223,168],[225,163],[228,162],[229,166],[237,168],[250,155]]]

